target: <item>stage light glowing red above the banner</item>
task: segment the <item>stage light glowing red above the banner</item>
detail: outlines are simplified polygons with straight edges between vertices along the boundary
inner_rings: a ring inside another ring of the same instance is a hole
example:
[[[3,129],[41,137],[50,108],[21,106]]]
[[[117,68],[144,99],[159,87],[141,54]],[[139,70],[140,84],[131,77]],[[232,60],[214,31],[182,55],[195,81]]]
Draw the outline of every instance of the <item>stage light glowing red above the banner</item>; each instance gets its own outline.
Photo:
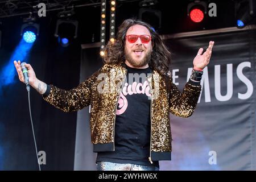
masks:
[[[187,15],[193,22],[202,22],[204,19],[204,14],[207,14],[207,3],[195,1],[188,4]]]

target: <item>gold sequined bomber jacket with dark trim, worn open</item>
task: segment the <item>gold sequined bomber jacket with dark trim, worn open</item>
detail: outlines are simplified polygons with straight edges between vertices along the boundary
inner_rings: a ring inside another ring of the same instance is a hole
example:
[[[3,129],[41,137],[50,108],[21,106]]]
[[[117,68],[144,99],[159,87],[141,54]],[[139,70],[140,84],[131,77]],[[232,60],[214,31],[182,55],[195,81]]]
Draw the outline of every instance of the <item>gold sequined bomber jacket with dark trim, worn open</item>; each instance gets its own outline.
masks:
[[[90,105],[90,132],[94,152],[115,150],[115,111],[125,81],[124,63],[105,64],[77,88],[63,90],[47,85],[44,100],[65,111],[77,111]],[[170,112],[179,117],[189,117],[200,96],[200,82],[189,80],[183,92],[166,75],[152,71],[147,76],[151,88],[151,141],[152,160],[171,160]]]

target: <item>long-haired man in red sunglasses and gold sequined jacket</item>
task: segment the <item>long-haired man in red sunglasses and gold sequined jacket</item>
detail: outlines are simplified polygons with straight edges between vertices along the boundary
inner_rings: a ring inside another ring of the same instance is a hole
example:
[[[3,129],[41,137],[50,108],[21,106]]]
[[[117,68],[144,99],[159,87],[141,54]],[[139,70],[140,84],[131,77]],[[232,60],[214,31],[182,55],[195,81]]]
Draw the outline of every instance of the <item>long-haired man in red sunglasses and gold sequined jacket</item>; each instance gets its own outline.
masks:
[[[30,85],[53,106],[69,112],[91,106],[90,127],[98,170],[159,170],[159,160],[171,160],[170,112],[189,117],[201,92],[203,69],[214,42],[200,48],[183,92],[170,74],[170,55],[147,23],[126,19],[117,39],[104,52],[104,66],[71,90],[38,80],[30,64]],[[24,82],[20,61],[14,61]]]

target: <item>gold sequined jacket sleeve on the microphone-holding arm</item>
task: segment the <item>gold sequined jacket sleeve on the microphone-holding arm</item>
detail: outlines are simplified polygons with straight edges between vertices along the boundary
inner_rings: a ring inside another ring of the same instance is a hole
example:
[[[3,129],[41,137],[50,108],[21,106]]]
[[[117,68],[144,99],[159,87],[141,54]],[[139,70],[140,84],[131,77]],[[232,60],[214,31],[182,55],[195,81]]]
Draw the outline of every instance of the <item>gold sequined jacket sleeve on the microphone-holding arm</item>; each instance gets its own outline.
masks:
[[[79,84],[79,86],[71,90],[64,90],[53,85],[47,85],[47,91],[43,94],[43,98],[49,102],[49,104],[65,112],[80,110],[90,105],[92,85],[97,80],[99,72],[100,69]]]

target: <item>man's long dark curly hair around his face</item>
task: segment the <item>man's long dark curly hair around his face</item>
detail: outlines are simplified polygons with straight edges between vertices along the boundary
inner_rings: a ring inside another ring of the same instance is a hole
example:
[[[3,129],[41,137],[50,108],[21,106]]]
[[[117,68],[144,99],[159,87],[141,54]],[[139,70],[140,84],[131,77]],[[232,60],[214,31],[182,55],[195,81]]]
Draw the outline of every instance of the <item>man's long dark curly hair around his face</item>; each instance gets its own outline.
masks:
[[[131,26],[136,24],[146,27],[148,31],[150,31],[152,37],[153,51],[151,53],[151,60],[148,63],[149,67],[158,71],[160,74],[167,73],[171,63],[170,51],[168,51],[162,39],[152,29],[150,24],[135,19],[126,19],[121,26],[119,26],[115,42],[109,42],[104,49],[104,63],[114,64],[125,61],[126,32]]]

